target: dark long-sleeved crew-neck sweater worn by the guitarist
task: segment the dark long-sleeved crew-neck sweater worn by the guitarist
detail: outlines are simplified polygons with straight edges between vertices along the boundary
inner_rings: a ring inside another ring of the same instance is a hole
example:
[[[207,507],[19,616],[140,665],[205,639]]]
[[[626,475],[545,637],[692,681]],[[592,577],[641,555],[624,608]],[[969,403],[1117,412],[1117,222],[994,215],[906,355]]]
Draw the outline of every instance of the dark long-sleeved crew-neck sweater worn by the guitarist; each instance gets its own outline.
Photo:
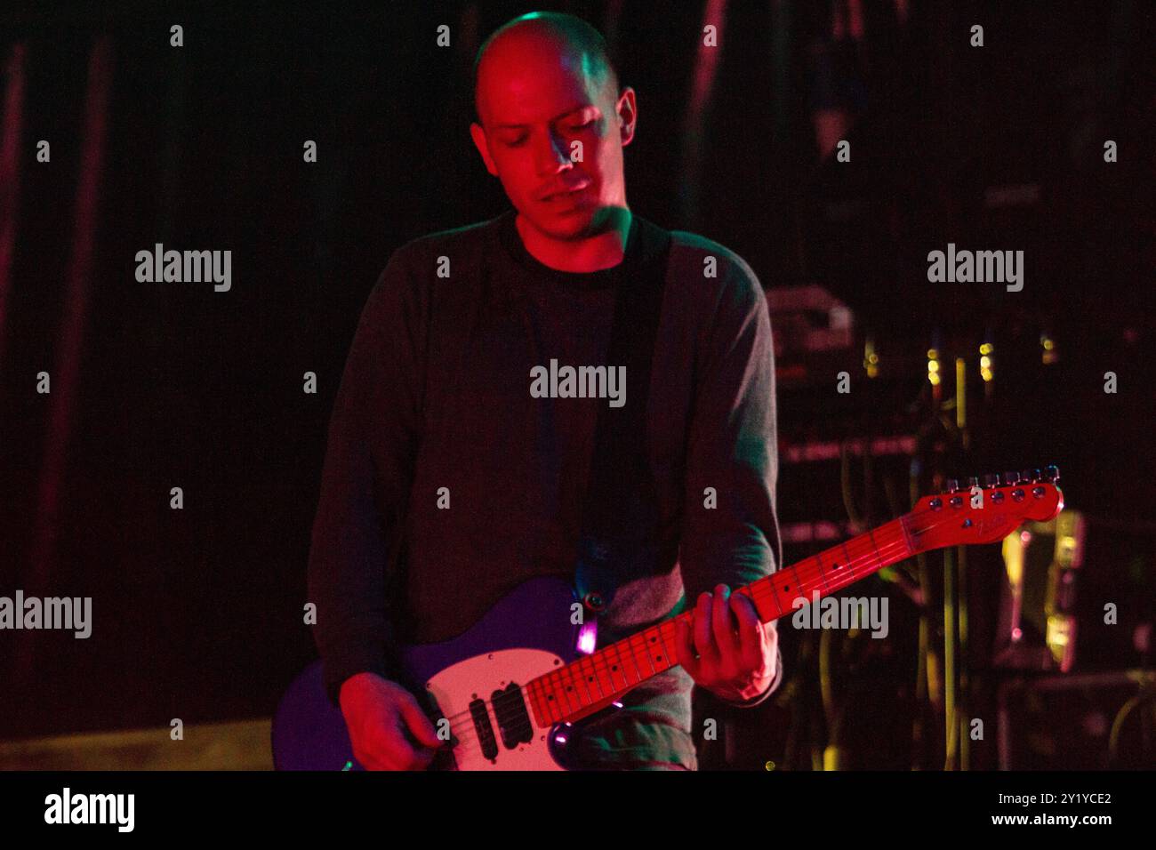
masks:
[[[401,246],[362,313],[309,562],[334,702],[357,672],[398,678],[399,644],[461,634],[527,578],[573,576],[607,399],[534,398],[531,369],[606,363],[628,264],[551,269],[526,251],[516,215]],[[766,300],[738,254],[695,234],[670,236],[647,411],[657,545],[600,614],[599,645],[692,606],[718,583],[765,576],[780,550]],[[635,216],[628,259],[637,245]],[[705,276],[707,257],[717,276]],[[450,510],[437,507],[443,487]],[[771,690],[781,658],[779,670]],[[623,710],[584,722],[590,757],[695,767],[692,683],[674,667],[630,692]]]

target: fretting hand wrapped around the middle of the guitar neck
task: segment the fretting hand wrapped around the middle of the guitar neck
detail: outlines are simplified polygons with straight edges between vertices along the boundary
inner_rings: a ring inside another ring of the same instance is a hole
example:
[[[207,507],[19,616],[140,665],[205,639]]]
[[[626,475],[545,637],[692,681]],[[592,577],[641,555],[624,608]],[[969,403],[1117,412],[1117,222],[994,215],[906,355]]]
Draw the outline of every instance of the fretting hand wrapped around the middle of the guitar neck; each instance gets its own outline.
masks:
[[[697,685],[732,702],[754,700],[771,687],[778,631],[758,619],[747,594],[716,585],[714,593],[698,597],[692,619],[692,624],[677,619],[675,648],[679,664]]]

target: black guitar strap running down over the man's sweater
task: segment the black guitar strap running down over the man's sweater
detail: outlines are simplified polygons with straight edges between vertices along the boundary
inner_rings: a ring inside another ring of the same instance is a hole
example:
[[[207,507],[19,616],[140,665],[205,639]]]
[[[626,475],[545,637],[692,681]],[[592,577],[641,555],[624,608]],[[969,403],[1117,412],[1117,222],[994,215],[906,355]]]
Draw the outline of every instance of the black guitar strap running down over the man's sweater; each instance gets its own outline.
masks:
[[[594,449],[583,502],[575,587],[584,621],[614,592],[651,544],[657,495],[647,461],[646,408],[662,308],[670,232],[638,216],[621,268],[606,363],[625,365],[625,404],[598,408]],[[633,252],[632,252],[632,249]]]

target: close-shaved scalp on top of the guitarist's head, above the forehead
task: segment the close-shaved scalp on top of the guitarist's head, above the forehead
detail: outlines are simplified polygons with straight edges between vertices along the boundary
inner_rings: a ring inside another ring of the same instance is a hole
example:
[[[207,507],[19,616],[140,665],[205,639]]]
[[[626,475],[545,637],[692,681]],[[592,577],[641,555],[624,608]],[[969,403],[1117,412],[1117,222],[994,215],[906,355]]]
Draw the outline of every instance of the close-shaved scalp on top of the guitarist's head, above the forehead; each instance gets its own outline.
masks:
[[[503,24],[487,38],[474,59],[474,113],[486,124],[487,91],[502,57],[511,53],[553,52],[556,60],[580,73],[592,93],[618,94],[618,74],[602,34],[575,15],[529,12]]]

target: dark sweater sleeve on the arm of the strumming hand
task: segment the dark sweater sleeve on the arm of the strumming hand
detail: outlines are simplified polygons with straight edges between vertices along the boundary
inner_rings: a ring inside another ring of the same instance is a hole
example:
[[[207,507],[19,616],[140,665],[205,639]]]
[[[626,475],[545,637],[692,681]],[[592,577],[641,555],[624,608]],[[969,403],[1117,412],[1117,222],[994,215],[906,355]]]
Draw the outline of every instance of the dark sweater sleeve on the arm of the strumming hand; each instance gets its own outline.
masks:
[[[423,310],[394,252],[346,360],[309,554],[313,637],[334,704],[363,671],[399,678],[391,577],[420,439]]]

